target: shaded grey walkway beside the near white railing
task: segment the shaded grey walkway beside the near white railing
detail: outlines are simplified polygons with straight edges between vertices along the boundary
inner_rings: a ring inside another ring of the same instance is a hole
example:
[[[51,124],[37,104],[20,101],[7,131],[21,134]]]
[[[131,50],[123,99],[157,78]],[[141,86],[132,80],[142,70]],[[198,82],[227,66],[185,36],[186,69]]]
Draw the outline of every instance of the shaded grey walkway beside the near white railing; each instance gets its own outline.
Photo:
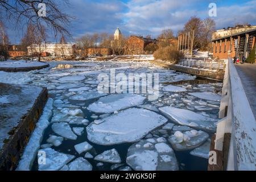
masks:
[[[256,64],[236,64],[236,68],[256,118]]]

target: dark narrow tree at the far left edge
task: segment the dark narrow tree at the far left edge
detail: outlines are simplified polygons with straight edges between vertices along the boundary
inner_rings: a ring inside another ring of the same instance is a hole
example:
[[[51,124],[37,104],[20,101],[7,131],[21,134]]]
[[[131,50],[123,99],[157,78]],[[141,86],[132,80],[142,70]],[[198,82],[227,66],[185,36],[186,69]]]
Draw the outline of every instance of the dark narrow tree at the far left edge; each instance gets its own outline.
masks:
[[[5,25],[0,20],[0,56],[5,60],[9,57],[8,46],[9,38],[5,30]]]

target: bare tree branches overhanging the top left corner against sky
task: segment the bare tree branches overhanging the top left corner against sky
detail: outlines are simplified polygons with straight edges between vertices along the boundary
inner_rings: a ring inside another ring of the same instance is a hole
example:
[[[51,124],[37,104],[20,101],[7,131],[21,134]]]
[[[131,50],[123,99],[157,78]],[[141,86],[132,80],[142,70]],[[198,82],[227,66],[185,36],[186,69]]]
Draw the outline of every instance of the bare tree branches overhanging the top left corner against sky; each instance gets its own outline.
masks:
[[[39,16],[40,3],[47,7],[46,16]],[[62,0],[61,3],[68,5],[68,0]],[[55,36],[59,34],[71,35],[67,30],[67,25],[73,19],[72,16],[63,13],[57,2],[54,0],[0,0],[0,16],[5,16],[8,20],[16,21],[16,27],[20,22],[24,24],[35,24],[38,29],[43,26],[51,28]],[[12,22],[13,23],[13,22]]]

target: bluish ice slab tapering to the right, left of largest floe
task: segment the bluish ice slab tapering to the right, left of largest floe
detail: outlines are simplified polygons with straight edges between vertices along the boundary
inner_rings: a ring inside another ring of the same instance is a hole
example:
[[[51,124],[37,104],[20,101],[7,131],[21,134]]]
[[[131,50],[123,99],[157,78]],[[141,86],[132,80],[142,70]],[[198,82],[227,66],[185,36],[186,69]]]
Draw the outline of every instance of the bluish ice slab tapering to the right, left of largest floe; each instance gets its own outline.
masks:
[[[53,123],[52,130],[61,137],[71,140],[77,139],[77,136],[73,133],[68,123]]]

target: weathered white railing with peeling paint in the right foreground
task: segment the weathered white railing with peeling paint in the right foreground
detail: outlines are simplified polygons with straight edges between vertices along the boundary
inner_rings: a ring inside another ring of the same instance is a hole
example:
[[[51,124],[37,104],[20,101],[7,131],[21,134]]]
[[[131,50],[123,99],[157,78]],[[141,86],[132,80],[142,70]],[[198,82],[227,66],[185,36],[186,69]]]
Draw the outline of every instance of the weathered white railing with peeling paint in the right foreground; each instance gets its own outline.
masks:
[[[255,171],[256,122],[232,59],[227,60],[215,150],[222,151],[224,135],[231,134],[227,170]]]

